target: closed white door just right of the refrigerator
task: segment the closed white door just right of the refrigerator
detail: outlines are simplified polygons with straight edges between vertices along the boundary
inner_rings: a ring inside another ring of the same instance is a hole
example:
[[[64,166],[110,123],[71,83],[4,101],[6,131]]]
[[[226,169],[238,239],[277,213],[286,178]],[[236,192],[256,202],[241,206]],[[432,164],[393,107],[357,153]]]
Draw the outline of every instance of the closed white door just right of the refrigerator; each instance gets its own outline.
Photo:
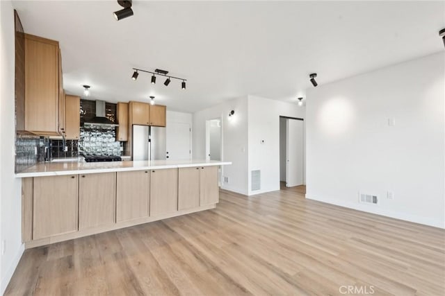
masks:
[[[167,132],[167,159],[191,159],[190,123],[169,122],[165,129]]]

